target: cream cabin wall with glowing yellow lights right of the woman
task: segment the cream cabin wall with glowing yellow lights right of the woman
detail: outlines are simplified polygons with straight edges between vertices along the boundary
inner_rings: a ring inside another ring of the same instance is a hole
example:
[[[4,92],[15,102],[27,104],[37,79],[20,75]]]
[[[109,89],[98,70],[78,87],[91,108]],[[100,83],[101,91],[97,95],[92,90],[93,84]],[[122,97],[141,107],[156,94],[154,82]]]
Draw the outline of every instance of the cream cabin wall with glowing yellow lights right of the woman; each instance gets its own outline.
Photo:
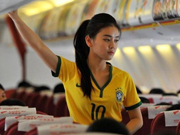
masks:
[[[123,48],[113,63],[130,73],[137,86],[145,91],[151,88],[163,88],[166,92],[180,89],[180,50],[176,46],[158,50],[151,47],[140,51],[138,47],[126,52]]]

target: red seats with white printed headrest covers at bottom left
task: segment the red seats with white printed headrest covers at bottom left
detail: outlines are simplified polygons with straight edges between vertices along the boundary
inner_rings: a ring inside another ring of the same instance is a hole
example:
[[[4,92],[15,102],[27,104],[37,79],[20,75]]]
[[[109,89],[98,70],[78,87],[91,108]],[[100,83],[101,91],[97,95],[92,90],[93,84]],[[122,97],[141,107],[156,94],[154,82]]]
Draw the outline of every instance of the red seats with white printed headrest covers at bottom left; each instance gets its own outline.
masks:
[[[19,109],[31,108],[16,108],[13,106],[9,110],[16,112]],[[2,109],[2,108],[1,108]],[[4,108],[5,110],[6,108]],[[8,111],[7,110],[7,111]],[[1,110],[2,111],[2,110]],[[9,121],[7,120],[9,118]],[[11,120],[11,122],[10,122]],[[11,123],[11,124],[10,124]],[[6,127],[9,124],[8,127]],[[6,128],[5,128],[6,127]],[[53,128],[52,128],[53,127]],[[70,133],[85,133],[88,126],[73,123],[71,117],[53,117],[43,112],[34,112],[33,114],[20,115],[15,114],[0,119],[0,134],[1,135],[47,135],[52,134],[70,134]],[[52,133],[53,131],[53,133]]]

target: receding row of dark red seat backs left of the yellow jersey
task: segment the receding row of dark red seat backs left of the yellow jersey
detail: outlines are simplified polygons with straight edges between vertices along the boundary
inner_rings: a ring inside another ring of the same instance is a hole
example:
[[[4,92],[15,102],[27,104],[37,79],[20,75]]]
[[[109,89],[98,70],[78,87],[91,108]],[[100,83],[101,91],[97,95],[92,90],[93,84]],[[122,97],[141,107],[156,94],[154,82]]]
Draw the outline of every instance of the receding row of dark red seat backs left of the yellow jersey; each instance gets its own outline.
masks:
[[[48,95],[40,92],[18,92],[15,89],[13,91],[8,95],[9,98],[19,99],[28,107],[35,107],[38,111],[55,117],[69,116],[64,93]]]

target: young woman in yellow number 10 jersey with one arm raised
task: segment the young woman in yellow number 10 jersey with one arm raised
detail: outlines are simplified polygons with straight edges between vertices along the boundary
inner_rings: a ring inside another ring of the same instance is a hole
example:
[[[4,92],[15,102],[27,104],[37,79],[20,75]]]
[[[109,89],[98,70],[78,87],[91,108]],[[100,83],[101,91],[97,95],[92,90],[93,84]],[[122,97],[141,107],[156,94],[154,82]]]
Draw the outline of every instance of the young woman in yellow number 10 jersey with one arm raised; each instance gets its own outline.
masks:
[[[18,16],[9,13],[25,42],[31,46],[63,82],[70,116],[80,124],[110,117],[122,121],[124,106],[130,121],[130,133],[142,126],[141,101],[130,75],[107,60],[116,52],[121,30],[109,14],[101,13],[84,21],[74,37],[75,60],[56,56]]]

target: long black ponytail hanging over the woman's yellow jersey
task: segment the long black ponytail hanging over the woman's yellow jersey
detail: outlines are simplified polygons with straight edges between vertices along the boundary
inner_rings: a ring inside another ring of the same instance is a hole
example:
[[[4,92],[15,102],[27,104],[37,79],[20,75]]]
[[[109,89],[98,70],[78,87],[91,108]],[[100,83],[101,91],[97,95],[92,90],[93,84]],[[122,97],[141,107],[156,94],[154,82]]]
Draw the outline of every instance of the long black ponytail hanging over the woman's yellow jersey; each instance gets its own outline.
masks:
[[[74,36],[74,48],[75,48],[75,61],[78,69],[81,72],[81,89],[84,93],[84,96],[87,96],[91,99],[91,89],[93,89],[91,78],[90,78],[90,69],[87,64],[87,58],[89,55],[89,47],[86,44],[86,29],[90,20],[84,21],[78,28]]]

